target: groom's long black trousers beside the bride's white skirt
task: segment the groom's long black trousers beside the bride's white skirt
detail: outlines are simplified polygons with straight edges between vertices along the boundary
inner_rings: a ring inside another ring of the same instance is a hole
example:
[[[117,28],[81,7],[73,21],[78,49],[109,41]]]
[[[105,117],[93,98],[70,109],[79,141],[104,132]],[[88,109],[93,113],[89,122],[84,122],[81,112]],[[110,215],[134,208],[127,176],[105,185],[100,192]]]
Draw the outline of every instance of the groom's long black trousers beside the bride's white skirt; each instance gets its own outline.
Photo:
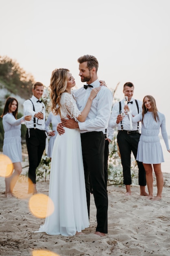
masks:
[[[104,175],[105,137],[103,132],[85,132],[81,134],[83,165],[88,214],[90,212],[90,182],[93,188],[97,209],[96,231],[107,234],[108,197]]]

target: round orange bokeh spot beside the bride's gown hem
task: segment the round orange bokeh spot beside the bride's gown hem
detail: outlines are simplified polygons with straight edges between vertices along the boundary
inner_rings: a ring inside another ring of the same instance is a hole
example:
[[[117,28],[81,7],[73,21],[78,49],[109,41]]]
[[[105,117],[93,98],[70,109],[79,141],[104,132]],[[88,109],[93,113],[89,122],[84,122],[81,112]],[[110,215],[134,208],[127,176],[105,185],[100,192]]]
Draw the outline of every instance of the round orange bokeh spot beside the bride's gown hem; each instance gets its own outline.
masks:
[[[35,194],[29,200],[29,208],[31,213],[37,218],[46,218],[53,213],[54,203],[47,195]]]

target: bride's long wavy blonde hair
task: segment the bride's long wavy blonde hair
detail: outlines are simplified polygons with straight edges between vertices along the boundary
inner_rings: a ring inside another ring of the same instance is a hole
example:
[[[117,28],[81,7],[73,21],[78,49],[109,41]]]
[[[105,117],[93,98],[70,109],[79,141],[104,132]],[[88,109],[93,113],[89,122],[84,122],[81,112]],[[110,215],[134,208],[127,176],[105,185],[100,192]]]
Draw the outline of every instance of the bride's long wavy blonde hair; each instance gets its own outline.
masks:
[[[61,115],[61,94],[66,92],[67,87],[67,74],[70,70],[66,68],[59,68],[52,71],[50,79],[50,98],[51,98],[51,111],[54,115]]]

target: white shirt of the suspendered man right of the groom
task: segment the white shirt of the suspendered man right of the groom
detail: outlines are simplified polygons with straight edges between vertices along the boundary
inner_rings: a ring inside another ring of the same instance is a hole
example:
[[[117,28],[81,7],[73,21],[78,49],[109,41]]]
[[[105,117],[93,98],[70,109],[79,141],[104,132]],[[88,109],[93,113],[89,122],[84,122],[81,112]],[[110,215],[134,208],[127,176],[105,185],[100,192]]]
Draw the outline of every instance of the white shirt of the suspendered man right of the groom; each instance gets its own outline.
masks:
[[[137,105],[136,105],[135,99],[132,98],[131,101],[133,101],[133,104],[129,103],[128,107],[129,107],[129,109],[131,111],[131,114],[136,116],[138,114],[138,111],[137,111]],[[139,113],[141,113],[142,112],[142,101],[137,100],[137,103],[138,103],[138,106],[139,106]],[[124,112],[124,99],[121,101],[121,106],[122,106],[122,112]],[[113,105],[113,108],[112,108],[111,118],[109,120],[109,125],[112,128],[116,128],[117,127],[118,130],[121,130],[121,123],[119,123],[119,124],[116,123],[117,116],[119,114],[120,114],[119,102],[116,102]],[[122,120],[122,125],[123,125],[123,130],[131,130],[130,129],[130,120],[128,118],[128,115],[124,114],[124,118]],[[141,129],[141,125],[139,124],[139,130],[140,129]],[[137,122],[133,123],[133,129],[132,130],[137,130]]]

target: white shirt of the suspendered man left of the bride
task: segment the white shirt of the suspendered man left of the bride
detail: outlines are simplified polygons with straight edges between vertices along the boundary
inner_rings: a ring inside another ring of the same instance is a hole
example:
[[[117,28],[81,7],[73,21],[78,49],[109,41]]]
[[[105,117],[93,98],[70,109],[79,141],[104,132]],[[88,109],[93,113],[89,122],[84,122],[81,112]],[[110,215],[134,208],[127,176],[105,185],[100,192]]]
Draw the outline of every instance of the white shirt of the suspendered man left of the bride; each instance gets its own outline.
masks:
[[[32,103],[32,102],[33,103]],[[32,119],[29,122],[25,122],[25,125],[27,128],[34,128],[34,115],[38,112],[41,112],[42,107],[44,106],[44,110],[43,110],[43,114],[44,114],[44,119],[41,125],[37,124],[37,117],[35,117],[35,123],[36,123],[36,127],[39,130],[45,130],[46,126],[45,126],[45,120],[46,120],[46,112],[45,112],[45,105],[43,102],[39,103],[37,102],[38,99],[33,95],[31,97],[31,101],[29,99],[27,99],[26,101],[24,101],[24,115],[32,115]],[[34,108],[35,111],[33,111],[33,104],[34,104]]]

